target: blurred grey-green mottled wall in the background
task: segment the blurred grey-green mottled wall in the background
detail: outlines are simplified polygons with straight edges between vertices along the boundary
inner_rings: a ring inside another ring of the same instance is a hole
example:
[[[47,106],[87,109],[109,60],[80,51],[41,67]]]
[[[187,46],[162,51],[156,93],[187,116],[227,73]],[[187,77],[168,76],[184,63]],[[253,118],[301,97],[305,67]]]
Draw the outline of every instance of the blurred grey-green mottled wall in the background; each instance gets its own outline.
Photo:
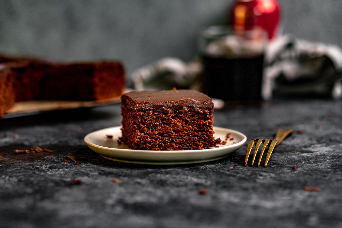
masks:
[[[0,0],[0,52],[67,61],[120,59],[128,76],[197,53],[201,29],[233,0]],[[342,1],[279,0],[284,33],[342,46]]]

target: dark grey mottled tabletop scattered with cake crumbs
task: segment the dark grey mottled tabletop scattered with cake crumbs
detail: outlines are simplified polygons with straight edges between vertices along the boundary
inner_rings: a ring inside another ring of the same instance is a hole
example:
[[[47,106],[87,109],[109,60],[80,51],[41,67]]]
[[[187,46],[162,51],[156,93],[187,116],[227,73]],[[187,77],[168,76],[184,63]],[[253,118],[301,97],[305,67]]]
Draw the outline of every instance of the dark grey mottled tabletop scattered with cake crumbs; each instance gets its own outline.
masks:
[[[341,100],[215,110],[215,126],[247,140],[295,129],[267,167],[243,165],[247,143],[201,164],[100,159],[84,136],[120,121],[120,104],[0,120],[0,227],[342,227]],[[14,153],[35,146],[52,152]]]

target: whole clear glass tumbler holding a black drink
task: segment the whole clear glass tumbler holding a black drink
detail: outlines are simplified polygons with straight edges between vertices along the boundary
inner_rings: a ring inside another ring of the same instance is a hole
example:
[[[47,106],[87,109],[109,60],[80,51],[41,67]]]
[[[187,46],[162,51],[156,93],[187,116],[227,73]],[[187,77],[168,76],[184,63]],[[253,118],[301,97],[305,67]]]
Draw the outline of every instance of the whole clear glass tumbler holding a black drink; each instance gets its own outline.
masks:
[[[266,34],[263,30],[229,30],[209,27],[203,34],[202,91],[212,98],[232,102],[262,99]]]

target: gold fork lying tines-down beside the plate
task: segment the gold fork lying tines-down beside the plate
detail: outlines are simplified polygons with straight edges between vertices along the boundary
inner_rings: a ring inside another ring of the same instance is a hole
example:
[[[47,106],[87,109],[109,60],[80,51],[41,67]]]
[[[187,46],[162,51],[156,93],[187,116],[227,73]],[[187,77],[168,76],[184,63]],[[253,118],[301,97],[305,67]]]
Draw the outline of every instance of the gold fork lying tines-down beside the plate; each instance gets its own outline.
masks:
[[[249,157],[249,154],[252,151],[253,145],[255,144],[255,149],[254,149],[253,158],[252,158],[252,165],[254,164],[255,157],[257,157],[257,152],[259,150],[260,145],[262,143],[264,143],[262,148],[261,148],[259,162],[258,162],[258,167],[260,165],[262,155],[264,154],[264,151],[265,151],[267,145],[269,144],[269,148],[268,148],[267,155],[266,155],[266,161],[265,161],[265,167],[266,167],[266,165],[268,163],[268,160],[269,160],[269,157],[271,157],[271,154],[272,154],[274,148],[276,146],[278,146],[281,143],[281,141],[284,140],[284,138],[286,138],[293,131],[294,131],[294,129],[284,130],[284,129],[280,129],[279,128],[277,130],[277,133],[276,133],[274,139],[265,139],[265,138],[254,138],[254,139],[251,139],[249,141],[249,143],[248,143],[248,146],[247,146],[246,158],[245,158],[245,166],[247,166],[248,157]]]

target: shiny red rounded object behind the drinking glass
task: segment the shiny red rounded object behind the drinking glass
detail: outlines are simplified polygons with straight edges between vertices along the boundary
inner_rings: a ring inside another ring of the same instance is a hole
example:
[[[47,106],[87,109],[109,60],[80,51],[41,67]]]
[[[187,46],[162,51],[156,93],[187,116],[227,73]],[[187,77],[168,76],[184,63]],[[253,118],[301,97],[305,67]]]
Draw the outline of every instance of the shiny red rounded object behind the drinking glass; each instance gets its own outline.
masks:
[[[229,14],[229,24],[238,31],[260,26],[267,31],[271,40],[278,33],[280,11],[277,0],[238,0]]]

